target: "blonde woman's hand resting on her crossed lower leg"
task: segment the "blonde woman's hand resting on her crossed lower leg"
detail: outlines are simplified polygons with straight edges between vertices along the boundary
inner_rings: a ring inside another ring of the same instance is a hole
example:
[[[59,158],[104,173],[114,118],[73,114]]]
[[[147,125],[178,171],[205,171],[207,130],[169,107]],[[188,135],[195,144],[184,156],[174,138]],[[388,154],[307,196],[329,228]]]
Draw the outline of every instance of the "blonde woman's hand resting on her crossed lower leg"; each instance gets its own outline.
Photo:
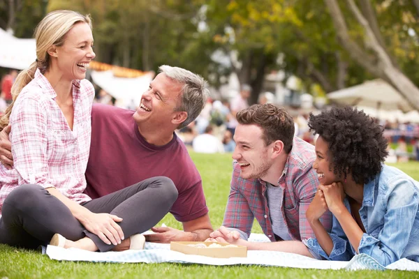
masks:
[[[118,245],[124,240],[124,232],[116,222],[121,222],[122,218],[108,213],[87,213],[80,218],[80,223],[89,231],[110,245]]]

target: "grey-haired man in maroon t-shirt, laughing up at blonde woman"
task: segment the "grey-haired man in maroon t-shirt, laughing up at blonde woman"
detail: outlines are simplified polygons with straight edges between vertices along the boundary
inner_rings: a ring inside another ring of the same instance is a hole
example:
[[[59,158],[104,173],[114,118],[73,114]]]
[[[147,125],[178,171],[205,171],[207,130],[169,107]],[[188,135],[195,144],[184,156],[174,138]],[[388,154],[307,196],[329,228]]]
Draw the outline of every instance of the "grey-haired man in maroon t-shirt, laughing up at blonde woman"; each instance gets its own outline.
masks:
[[[152,176],[168,176],[178,197],[170,213],[183,231],[155,227],[148,241],[202,241],[212,226],[202,180],[175,129],[196,119],[205,105],[205,80],[182,68],[161,66],[138,109],[94,105],[86,193],[101,197]],[[0,133],[0,161],[13,165],[8,132]]]

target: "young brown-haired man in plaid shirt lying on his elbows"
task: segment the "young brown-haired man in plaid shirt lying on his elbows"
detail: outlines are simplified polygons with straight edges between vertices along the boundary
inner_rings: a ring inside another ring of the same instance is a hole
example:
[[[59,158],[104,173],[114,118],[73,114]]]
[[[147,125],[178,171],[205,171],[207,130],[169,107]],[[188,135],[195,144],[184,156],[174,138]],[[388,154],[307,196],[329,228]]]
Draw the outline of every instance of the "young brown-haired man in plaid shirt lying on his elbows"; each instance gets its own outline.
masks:
[[[210,240],[318,257],[302,243],[314,237],[305,215],[318,188],[314,146],[294,137],[293,118],[272,104],[252,105],[237,121],[226,213]],[[254,218],[271,243],[247,241]],[[321,222],[330,229],[329,212]]]

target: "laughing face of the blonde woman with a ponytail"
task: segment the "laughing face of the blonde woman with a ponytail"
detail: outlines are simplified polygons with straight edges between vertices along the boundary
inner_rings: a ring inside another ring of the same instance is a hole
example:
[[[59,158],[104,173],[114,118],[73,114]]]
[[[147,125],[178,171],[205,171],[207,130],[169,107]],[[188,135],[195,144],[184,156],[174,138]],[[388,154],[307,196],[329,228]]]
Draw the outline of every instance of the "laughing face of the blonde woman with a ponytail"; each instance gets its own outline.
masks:
[[[89,24],[76,23],[66,33],[64,44],[55,47],[52,56],[57,57],[57,66],[64,79],[83,80],[91,59],[96,56],[93,52],[93,35]]]

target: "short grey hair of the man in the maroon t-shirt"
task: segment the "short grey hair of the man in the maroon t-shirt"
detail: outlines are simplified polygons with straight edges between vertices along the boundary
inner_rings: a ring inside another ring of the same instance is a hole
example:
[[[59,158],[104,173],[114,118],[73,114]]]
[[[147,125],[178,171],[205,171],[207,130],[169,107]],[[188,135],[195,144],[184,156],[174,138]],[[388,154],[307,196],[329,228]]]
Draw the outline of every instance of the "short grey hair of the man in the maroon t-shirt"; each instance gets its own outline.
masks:
[[[210,95],[208,84],[200,75],[178,67],[162,65],[159,67],[159,73],[164,73],[170,79],[184,84],[180,92],[182,94],[180,103],[175,108],[177,112],[188,114],[185,121],[177,127],[178,129],[184,128],[194,121],[203,110],[207,97]]]

